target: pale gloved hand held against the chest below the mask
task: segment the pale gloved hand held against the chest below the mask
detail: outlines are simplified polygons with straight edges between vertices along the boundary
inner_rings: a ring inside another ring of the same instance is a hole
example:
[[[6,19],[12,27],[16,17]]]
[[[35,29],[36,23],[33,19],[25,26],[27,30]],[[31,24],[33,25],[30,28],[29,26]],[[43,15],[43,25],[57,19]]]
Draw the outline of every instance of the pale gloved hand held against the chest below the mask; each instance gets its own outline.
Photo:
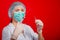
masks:
[[[22,34],[23,32],[24,32],[23,24],[22,23],[17,23],[17,26],[15,27],[11,38],[16,40],[18,35]]]

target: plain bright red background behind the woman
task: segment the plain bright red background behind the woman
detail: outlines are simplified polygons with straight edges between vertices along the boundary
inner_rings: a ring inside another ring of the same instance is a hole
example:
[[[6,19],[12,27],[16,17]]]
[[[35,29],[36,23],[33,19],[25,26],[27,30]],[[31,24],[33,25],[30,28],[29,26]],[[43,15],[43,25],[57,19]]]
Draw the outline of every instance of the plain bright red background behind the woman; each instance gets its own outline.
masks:
[[[16,0],[0,0],[0,40],[2,29],[9,24],[8,8]],[[45,40],[60,40],[60,1],[59,0],[19,0],[26,5],[27,12],[24,23],[36,32],[34,16],[44,22],[43,36]]]

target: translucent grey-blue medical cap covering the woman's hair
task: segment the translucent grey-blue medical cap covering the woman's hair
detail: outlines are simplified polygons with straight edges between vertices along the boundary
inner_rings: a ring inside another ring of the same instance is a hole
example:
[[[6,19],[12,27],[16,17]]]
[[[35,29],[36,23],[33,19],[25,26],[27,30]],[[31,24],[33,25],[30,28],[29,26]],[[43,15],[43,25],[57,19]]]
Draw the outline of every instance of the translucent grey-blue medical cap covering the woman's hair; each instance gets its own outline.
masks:
[[[13,9],[15,8],[15,6],[22,6],[22,7],[24,8],[24,12],[26,12],[26,7],[25,7],[25,5],[24,5],[22,2],[14,2],[14,3],[10,6],[10,8],[9,8],[9,10],[8,10],[8,16],[9,16],[10,18],[12,18],[12,11],[13,11]]]

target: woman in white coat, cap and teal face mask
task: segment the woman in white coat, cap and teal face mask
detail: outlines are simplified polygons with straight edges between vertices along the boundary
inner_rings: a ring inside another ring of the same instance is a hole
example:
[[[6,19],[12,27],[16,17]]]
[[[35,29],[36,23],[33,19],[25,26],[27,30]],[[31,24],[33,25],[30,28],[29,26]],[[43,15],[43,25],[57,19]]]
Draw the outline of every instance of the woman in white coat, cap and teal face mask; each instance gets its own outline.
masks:
[[[22,21],[25,18],[26,7],[21,2],[14,2],[9,8],[8,14],[11,22],[2,31],[2,40],[44,40],[42,36],[43,22],[35,20],[37,32]]]

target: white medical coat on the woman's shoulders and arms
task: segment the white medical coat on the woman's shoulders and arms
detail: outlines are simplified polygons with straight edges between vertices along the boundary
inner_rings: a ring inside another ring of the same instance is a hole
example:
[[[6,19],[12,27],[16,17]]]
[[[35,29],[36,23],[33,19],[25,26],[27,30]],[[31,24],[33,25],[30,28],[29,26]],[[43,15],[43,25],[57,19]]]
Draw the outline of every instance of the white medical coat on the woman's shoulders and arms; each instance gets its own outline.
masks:
[[[20,34],[17,40],[38,40],[38,34],[33,31],[33,29],[26,24],[24,25],[24,34]],[[2,40],[10,40],[15,27],[12,23],[9,23],[2,31]]]

